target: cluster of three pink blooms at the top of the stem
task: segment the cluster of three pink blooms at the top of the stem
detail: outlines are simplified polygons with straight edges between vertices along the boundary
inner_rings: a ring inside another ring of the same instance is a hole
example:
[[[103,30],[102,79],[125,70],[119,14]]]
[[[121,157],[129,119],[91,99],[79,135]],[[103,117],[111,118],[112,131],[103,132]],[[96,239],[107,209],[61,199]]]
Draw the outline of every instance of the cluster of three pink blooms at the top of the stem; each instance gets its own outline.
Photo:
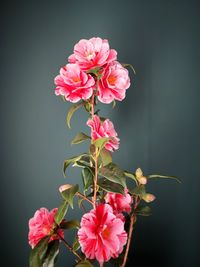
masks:
[[[89,99],[94,91],[106,104],[125,98],[130,86],[128,71],[116,61],[117,52],[110,49],[107,40],[80,40],[68,60],[55,78],[56,95],[73,103]]]

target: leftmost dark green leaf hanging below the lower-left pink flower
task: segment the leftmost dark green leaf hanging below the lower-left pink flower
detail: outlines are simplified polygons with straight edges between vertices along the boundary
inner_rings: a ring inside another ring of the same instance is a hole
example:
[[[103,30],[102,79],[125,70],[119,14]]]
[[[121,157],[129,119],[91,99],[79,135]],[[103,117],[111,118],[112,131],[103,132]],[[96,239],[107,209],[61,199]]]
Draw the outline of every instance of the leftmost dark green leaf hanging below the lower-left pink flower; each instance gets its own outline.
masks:
[[[42,267],[42,261],[48,248],[50,236],[46,236],[32,249],[29,257],[30,267]]]

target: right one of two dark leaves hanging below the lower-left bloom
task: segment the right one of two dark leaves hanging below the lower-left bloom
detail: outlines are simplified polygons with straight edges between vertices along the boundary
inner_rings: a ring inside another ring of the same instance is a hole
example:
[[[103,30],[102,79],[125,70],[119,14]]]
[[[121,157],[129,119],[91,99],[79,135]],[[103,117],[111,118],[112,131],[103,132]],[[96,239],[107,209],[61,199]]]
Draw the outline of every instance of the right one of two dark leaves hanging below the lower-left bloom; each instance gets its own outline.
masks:
[[[48,245],[43,267],[54,267],[59,254],[59,240],[53,240]]]

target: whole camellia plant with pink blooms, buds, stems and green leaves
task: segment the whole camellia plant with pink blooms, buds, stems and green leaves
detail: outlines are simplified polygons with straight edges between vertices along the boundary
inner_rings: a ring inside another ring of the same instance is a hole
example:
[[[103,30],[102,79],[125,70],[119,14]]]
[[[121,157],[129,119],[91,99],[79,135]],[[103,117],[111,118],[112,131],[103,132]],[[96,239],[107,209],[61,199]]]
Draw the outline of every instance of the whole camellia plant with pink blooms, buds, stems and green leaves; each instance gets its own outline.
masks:
[[[82,186],[61,185],[61,205],[51,211],[41,208],[29,220],[30,267],[54,266],[61,242],[74,254],[76,267],[93,266],[95,261],[102,267],[111,259],[124,267],[136,218],[150,215],[150,207],[145,203],[155,200],[146,185],[157,177],[179,180],[173,176],[144,175],[140,168],[132,173],[112,161],[120,139],[113,123],[99,115],[96,105],[115,104],[125,98],[130,87],[126,67],[133,67],[119,63],[116,50],[98,37],[80,40],[68,61],[55,78],[55,94],[75,103],[67,114],[69,128],[75,111],[83,107],[88,112],[86,124],[91,134],[80,132],[72,144],[89,140],[90,145],[87,153],[66,159],[63,165],[64,174],[70,165],[82,169]],[[130,179],[131,186],[127,186],[126,179]],[[68,208],[74,206],[74,198],[78,198],[83,209],[80,221],[66,217]],[[84,202],[91,205],[90,209],[85,209]],[[73,244],[69,244],[64,231],[73,228],[77,232]]]

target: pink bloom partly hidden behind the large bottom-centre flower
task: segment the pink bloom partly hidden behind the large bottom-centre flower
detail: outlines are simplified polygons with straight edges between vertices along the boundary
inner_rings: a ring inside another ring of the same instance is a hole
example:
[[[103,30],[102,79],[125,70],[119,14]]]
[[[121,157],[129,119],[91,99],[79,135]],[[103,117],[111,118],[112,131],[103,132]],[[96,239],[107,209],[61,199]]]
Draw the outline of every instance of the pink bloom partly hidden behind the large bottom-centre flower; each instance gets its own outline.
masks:
[[[125,189],[125,195],[117,194],[117,193],[107,193],[105,196],[106,203],[110,204],[113,208],[114,213],[120,212],[131,212],[131,204],[133,203],[133,199],[131,195],[128,193],[128,189]]]

